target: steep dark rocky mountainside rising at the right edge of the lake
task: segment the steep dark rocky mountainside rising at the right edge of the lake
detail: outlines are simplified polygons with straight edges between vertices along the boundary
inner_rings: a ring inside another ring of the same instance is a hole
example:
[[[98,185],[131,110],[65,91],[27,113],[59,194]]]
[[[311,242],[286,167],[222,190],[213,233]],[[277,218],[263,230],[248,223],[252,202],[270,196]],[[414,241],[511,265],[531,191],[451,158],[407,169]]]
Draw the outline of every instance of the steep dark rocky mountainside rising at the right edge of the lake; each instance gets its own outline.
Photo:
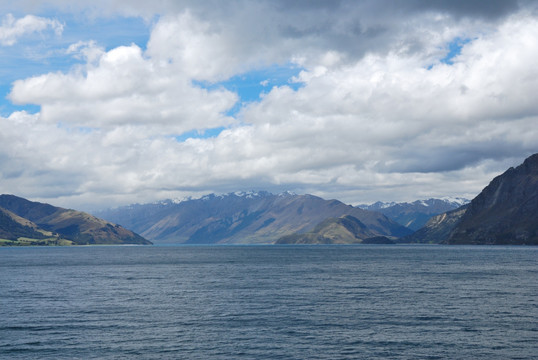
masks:
[[[538,245],[538,154],[494,178],[468,205],[400,241]]]

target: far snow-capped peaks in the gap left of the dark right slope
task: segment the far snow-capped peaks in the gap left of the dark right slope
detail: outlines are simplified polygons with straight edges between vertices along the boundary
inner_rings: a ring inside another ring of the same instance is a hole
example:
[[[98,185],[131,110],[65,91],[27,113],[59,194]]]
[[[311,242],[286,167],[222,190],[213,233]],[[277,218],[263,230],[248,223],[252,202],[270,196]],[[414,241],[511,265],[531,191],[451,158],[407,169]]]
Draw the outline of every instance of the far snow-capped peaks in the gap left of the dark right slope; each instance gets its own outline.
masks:
[[[467,203],[469,203],[469,200],[463,198],[443,198],[417,200],[412,203],[384,203],[378,201],[372,205],[358,205],[357,207],[380,212],[398,224],[416,231],[422,228],[433,216],[457,209]]]

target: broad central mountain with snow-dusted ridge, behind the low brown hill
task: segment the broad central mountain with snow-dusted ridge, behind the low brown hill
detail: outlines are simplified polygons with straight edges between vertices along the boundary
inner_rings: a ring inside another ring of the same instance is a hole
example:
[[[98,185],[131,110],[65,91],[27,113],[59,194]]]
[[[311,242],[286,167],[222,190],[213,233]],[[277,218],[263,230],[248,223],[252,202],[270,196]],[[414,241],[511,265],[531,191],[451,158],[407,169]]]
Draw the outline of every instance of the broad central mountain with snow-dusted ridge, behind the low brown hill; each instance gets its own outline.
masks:
[[[411,231],[386,216],[313,195],[268,192],[207,195],[200,199],[131,205],[96,212],[154,242],[274,243],[305,233],[327,218],[351,215],[375,236],[400,237]]]

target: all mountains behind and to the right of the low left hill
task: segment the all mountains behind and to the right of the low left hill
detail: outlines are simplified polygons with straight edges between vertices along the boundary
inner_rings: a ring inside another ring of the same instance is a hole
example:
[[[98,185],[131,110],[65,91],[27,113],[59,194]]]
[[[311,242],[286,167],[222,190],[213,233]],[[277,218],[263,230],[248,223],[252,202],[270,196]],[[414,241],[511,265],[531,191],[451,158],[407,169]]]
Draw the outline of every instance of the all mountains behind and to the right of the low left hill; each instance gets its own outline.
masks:
[[[313,195],[249,192],[96,215],[157,243],[537,244],[537,172],[535,154],[493,179],[471,202],[445,198],[352,207]]]

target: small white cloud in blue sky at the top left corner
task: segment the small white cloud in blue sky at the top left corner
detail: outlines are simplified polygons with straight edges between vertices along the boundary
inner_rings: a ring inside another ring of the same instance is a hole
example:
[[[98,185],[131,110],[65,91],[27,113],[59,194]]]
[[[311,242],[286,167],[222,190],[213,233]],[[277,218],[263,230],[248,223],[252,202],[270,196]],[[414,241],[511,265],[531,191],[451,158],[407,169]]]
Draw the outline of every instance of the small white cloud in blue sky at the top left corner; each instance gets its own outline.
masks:
[[[43,32],[49,28],[53,30],[56,35],[62,34],[63,25],[58,20],[34,15],[26,15],[23,18],[15,19],[12,14],[7,14],[0,26],[0,44],[11,46],[23,36]]]

